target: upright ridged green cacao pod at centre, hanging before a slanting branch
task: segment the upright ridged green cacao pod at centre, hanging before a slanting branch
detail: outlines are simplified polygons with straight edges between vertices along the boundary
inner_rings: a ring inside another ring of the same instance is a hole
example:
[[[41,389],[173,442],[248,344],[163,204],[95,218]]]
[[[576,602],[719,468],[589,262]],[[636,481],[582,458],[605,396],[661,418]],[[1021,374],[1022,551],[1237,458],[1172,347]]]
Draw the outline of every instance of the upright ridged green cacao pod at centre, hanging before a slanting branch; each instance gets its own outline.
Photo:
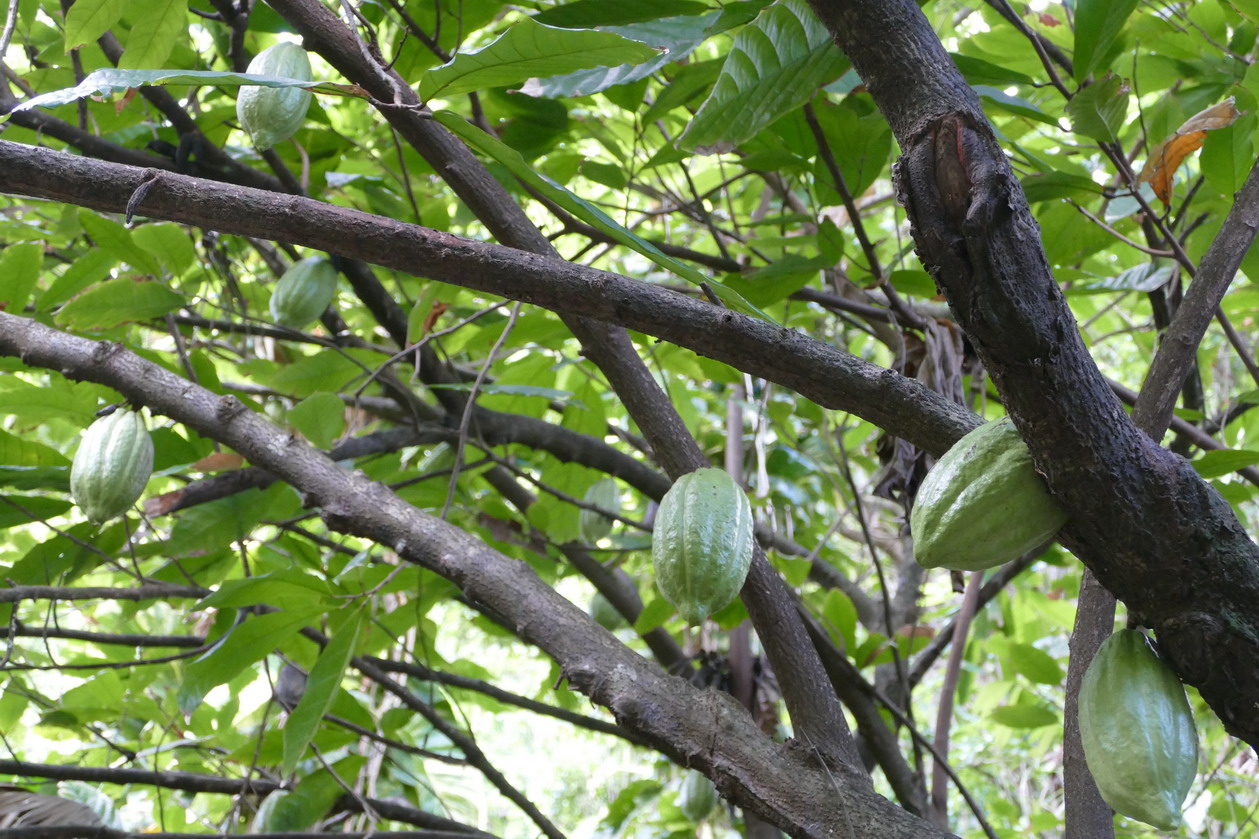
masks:
[[[752,566],[752,505],[723,469],[699,469],[674,482],[651,537],[656,586],[690,624],[739,596]]]

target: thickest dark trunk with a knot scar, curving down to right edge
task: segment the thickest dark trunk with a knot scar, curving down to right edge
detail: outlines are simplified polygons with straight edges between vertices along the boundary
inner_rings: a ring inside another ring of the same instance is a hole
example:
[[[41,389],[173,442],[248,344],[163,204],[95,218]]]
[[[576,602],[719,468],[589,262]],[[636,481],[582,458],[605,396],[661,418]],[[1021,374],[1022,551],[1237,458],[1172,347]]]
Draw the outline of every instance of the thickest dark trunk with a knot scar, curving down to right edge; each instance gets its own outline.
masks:
[[[1225,727],[1259,746],[1259,548],[1219,493],[1132,423],[1093,364],[1022,189],[917,4],[813,6],[904,150],[919,257],[1070,511],[1065,544],[1157,631]]]

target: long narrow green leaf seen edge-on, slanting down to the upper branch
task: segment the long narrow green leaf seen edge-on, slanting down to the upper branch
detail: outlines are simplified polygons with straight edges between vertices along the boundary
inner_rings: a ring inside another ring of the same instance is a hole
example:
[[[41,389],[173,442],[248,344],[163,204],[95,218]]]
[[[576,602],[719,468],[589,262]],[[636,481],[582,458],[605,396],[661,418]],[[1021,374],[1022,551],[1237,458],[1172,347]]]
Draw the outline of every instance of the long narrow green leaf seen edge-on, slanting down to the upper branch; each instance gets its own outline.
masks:
[[[624,225],[614,222],[607,213],[601,210],[594,204],[574,195],[553,181],[550,178],[535,171],[533,166],[525,163],[525,159],[520,156],[520,152],[495,137],[491,137],[475,125],[471,125],[458,113],[454,113],[453,111],[437,111],[433,113],[433,117],[473,149],[488,155],[494,160],[497,160],[500,164],[506,166],[512,175],[529,184],[590,227],[594,227],[601,233],[611,236],[621,244],[641,253],[660,267],[672,271],[682,280],[692,282],[697,286],[706,285],[713,290],[713,294],[715,294],[718,299],[720,299],[721,302],[730,309],[742,311],[745,315],[760,317],[762,320],[772,320],[769,315],[744,300],[739,292],[721,285],[716,280],[706,277],[689,265],[680,262],[671,256],[666,256],[655,244],[640,238]]]

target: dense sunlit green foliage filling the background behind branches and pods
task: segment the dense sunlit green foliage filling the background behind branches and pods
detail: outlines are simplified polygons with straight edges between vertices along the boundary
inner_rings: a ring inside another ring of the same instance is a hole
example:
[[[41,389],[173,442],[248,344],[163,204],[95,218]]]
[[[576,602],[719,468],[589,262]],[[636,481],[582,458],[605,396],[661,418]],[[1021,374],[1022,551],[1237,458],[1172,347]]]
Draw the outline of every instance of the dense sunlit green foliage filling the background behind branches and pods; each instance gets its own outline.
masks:
[[[258,52],[301,40],[269,5],[11,5],[0,112],[50,96],[13,112],[0,141],[271,186],[278,207],[301,189],[457,237],[499,233],[456,195],[461,173],[390,123],[415,110],[400,105],[408,91],[369,96],[324,44],[305,44],[317,82],[305,121],[266,154],[254,147],[237,122],[249,81],[239,73]],[[978,417],[1002,413],[914,256],[891,130],[805,0],[327,4],[342,30],[347,5],[363,39],[351,52],[383,58],[418,92],[431,121],[476,152],[564,260],[750,312]],[[1200,261],[1259,149],[1259,13],[1240,0],[1037,1],[1019,4],[1015,25],[997,8],[1006,4],[933,0],[923,11],[983,101],[1094,359],[1137,391],[1190,281],[1160,237]],[[1029,33],[1071,57],[1073,72],[1042,60]],[[160,86],[132,88],[141,82]],[[268,83],[278,87],[249,89],[292,89]],[[1136,183],[1152,147],[1226,97],[1238,118],[1211,123],[1178,166],[1156,160],[1153,186]],[[234,397],[528,566],[582,611],[596,585],[619,587],[609,600],[630,622],[617,644],[692,683],[743,688],[767,737],[792,734],[744,605],[691,630],[657,592],[651,523],[670,485],[660,441],[645,440],[627,396],[559,314],[432,281],[423,266],[375,266],[340,273],[319,322],[277,329],[268,301],[278,277],[319,251],[150,218],[142,200],[127,219],[122,208],[88,209],[89,195],[68,198],[29,198],[0,165],[0,310],[116,341],[189,392]],[[458,243],[448,243],[453,258]],[[1221,305],[1238,336],[1207,333],[1166,441],[1251,532],[1256,479],[1240,470],[1259,464],[1255,280],[1251,251]],[[733,358],[738,334],[708,355],[631,338],[685,431],[747,488],[758,538],[820,630],[817,645],[928,739],[942,697],[952,698],[949,763],[993,835],[1061,835],[1080,564],[1055,545],[1002,577],[946,675],[962,586],[914,562],[906,525],[930,459],[859,409],[825,409],[719,360]],[[96,413],[123,402],[121,383],[73,380],[18,354],[0,358],[0,593],[21,590],[0,600],[0,772],[45,780],[43,791],[132,830],[307,830],[325,819],[398,829],[423,824],[408,821],[414,809],[539,835],[528,800],[570,836],[740,835],[742,808],[719,806],[703,825],[687,816],[690,770],[670,750],[598,729],[612,717],[530,642],[534,626],[502,621],[456,581],[347,534],[336,510],[325,520],[306,488],[251,470],[249,452],[210,430],[149,406],[155,460],[141,506],[88,522],[71,500],[69,465]],[[582,500],[609,475],[619,501],[607,511],[619,518],[592,529],[609,519]],[[113,593],[57,598],[48,586]],[[584,625],[589,644],[613,642]],[[667,660],[669,650],[687,660]],[[392,675],[407,697],[383,689],[363,656],[400,663]],[[310,673],[288,711],[272,698],[285,663]],[[1190,702],[1201,760],[1186,835],[1248,835],[1259,818],[1254,755],[1192,690]],[[930,756],[904,721],[881,707],[872,718],[899,747],[885,760],[929,779]],[[720,748],[715,722],[706,737]],[[110,773],[121,768],[291,791],[196,791]],[[888,773],[872,776],[878,792],[896,795]],[[58,787],[60,777],[71,780]],[[516,800],[504,795],[511,787]],[[355,796],[410,809],[374,819],[351,806]],[[982,835],[957,785],[944,797],[951,829]],[[1119,835],[1155,835],[1117,824]]]

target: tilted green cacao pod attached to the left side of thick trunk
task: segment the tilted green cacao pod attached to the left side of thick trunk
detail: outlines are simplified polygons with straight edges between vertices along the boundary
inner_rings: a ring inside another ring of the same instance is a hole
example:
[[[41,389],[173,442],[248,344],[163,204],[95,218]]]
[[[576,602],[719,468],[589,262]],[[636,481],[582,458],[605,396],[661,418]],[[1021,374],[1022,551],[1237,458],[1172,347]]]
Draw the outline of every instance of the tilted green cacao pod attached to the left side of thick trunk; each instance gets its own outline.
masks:
[[[982,571],[1031,551],[1066,524],[1008,417],[949,448],[918,489],[909,530],[927,568]]]

